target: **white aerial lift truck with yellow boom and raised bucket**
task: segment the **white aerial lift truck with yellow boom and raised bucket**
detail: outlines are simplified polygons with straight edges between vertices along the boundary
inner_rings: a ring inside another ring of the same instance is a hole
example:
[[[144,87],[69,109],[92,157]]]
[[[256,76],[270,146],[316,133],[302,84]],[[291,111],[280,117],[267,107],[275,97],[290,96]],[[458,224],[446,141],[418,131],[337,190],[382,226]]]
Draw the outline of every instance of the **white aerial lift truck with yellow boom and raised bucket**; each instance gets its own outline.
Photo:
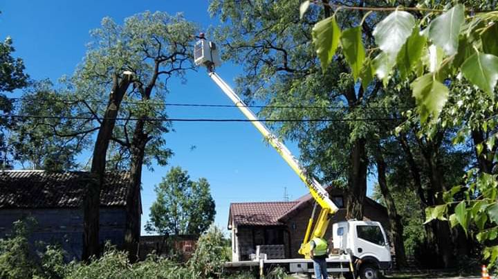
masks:
[[[239,264],[259,264],[261,272],[264,270],[265,264],[273,266],[279,264],[286,267],[290,272],[308,273],[311,276],[313,264],[311,261],[310,242],[315,237],[324,237],[331,216],[339,210],[338,206],[329,198],[329,193],[326,192],[325,188],[299,164],[299,161],[297,161],[284,143],[275,134],[270,132],[268,127],[252,113],[237,93],[214,71],[216,66],[221,65],[219,50],[214,42],[205,39],[203,33],[201,33],[199,41],[194,46],[194,62],[196,65],[205,66],[208,69],[210,78],[232,100],[244,116],[250,120],[264,136],[265,140],[277,150],[288,165],[291,166],[308,187],[313,199],[315,199],[315,206],[308,220],[304,240],[298,251],[299,254],[304,256],[304,259],[270,260],[264,257],[257,257],[256,263],[254,261],[247,261],[240,262]],[[320,206],[321,210],[315,221],[317,205]],[[349,276],[359,275],[360,278],[375,279],[378,278],[378,270],[389,269],[391,267],[389,242],[387,241],[384,228],[382,228],[379,222],[350,220],[333,224],[332,229],[333,248],[339,251],[339,253],[337,255],[329,255],[327,259],[328,265],[333,267],[328,269],[331,273],[347,274],[351,272]]]

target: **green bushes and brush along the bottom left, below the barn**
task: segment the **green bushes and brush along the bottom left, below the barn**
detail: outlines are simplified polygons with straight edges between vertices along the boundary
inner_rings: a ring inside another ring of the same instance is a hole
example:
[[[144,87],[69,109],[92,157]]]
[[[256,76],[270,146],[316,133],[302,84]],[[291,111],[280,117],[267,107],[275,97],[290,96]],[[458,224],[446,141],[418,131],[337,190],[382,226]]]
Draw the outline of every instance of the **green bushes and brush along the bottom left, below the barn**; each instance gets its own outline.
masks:
[[[104,254],[89,263],[64,263],[64,251],[40,242],[35,249],[28,241],[33,222],[15,222],[12,235],[0,240],[0,278],[80,279],[80,278],[220,278],[228,260],[226,241],[221,229],[212,226],[199,238],[196,251],[187,264],[149,255],[143,262],[131,264],[124,251],[106,244]],[[239,273],[230,278],[254,278]]]

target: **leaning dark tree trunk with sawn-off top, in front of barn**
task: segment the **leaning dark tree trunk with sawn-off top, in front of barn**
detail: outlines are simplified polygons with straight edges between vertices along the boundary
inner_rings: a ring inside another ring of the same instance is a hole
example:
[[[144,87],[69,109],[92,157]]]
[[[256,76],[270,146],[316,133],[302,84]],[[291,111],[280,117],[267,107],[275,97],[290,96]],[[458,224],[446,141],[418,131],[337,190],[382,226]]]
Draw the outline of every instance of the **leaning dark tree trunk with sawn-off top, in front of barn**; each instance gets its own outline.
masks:
[[[93,149],[91,164],[91,175],[93,181],[89,183],[84,197],[84,232],[83,232],[83,254],[82,259],[88,261],[91,256],[98,256],[99,251],[99,226],[100,226],[100,188],[104,183],[106,168],[107,148],[116,124],[116,116],[122,98],[126,93],[131,76],[125,75],[118,81],[118,75],[113,75],[113,89],[109,94],[107,109],[100,123],[97,140]]]

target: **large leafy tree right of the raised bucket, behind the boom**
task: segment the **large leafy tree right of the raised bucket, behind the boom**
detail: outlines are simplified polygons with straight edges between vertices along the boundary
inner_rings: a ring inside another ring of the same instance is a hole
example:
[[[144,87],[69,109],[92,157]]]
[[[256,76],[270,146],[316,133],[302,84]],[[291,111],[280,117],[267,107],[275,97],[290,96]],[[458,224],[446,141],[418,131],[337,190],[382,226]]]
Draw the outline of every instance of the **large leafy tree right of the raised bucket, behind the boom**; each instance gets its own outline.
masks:
[[[381,83],[358,88],[353,81],[357,73],[349,70],[350,53],[346,52],[321,69],[311,35],[322,31],[312,28],[329,17],[331,9],[312,9],[303,21],[298,10],[297,1],[212,1],[212,15],[219,15],[225,23],[215,34],[223,43],[223,57],[244,66],[237,89],[274,106],[261,111],[261,116],[269,118],[367,118],[363,108]],[[361,19],[361,12],[350,12],[341,17],[340,25],[351,26]],[[364,26],[369,28],[369,23]],[[358,32],[349,36],[354,38]],[[354,43],[351,38],[344,37],[342,44]],[[367,42],[373,42],[371,35]],[[331,45],[337,47],[338,40]],[[365,55],[363,46],[353,48]],[[286,107],[289,104],[295,107]],[[347,216],[362,219],[369,165],[366,136],[371,127],[360,121],[279,123],[275,127],[281,136],[299,143],[303,161],[318,178],[347,181]]]

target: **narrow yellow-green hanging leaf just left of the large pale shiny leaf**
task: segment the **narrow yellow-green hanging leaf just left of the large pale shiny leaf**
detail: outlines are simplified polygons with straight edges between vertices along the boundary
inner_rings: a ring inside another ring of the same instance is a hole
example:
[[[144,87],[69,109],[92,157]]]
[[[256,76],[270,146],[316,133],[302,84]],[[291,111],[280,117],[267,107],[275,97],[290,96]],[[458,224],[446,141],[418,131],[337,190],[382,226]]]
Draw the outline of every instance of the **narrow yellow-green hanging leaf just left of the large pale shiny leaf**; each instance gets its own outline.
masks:
[[[360,76],[363,60],[365,60],[365,48],[363,47],[361,35],[361,26],[356,26],[344,30],[340,38],[342,51],[351,67],[351,72],[353,73],[355,81]]]

